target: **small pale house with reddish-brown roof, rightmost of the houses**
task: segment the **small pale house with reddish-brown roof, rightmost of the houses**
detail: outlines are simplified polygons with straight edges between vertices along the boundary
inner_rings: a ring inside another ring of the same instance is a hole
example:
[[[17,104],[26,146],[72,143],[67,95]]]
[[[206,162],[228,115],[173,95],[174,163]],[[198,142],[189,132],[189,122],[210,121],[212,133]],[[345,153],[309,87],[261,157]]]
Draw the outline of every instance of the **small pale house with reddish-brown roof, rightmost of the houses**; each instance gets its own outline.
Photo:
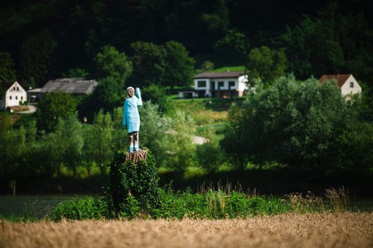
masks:
[[[347,100],[351,99],[352,95],[361,94],[362,92],[358,81],[352,74],[322,75],[319,81],[333,80],[337,82],[341,95]]]

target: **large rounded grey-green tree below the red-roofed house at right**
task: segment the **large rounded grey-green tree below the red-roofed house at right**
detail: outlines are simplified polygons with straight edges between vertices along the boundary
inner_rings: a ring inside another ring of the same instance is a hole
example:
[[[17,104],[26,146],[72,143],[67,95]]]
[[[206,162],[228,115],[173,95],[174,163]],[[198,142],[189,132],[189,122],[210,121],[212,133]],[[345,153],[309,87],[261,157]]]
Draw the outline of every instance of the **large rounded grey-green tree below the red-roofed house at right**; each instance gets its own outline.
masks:
[[[249,95],[229,117],[222,146],[228,152],[242,151],[241,157],[260,166],[277,161],[327,172],[338,163],[337,140],[349,121],[346,106],[335,84],[281,77],[270,88]]]

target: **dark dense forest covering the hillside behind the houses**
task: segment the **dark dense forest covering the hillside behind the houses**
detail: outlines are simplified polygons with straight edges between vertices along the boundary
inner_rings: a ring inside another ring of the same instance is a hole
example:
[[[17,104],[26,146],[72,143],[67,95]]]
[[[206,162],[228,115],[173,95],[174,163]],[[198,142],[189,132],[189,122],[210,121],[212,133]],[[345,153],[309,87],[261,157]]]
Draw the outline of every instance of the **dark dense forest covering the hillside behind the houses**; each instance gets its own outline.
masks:
[[[172,87],[177,82],[166,81],[174,78],[159,76],[167,74],[167,66],[151,59],[165,52],[156,50],[159,46],[174,41],[194,59],[193,69],[205,69],[206,62],[245,65],[265,80],[283,72],[300,79],[353,73],[370,86],[372,5],[366,0],[5,0],[0,74],[27,88],[64,75],[97,78],[95,57],[110,45],[133,64],[128,82]],[[155,72],[139,69],[146,67],[139,64],[144,60]],[[152,73],[154,80],[144,78]]]

